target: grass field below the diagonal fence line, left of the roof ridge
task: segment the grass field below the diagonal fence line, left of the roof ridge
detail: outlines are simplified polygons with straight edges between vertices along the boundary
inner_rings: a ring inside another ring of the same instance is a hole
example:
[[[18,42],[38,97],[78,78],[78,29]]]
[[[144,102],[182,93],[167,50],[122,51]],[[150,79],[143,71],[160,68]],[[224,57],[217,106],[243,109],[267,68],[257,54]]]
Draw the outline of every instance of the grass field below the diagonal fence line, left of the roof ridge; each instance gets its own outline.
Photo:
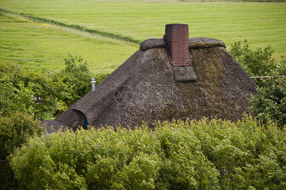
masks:
[[[138,47],[78,30],[0,13],[0,58],[31,69],[56,71],[68,53],[82,55],[95,74],[111,73]]]

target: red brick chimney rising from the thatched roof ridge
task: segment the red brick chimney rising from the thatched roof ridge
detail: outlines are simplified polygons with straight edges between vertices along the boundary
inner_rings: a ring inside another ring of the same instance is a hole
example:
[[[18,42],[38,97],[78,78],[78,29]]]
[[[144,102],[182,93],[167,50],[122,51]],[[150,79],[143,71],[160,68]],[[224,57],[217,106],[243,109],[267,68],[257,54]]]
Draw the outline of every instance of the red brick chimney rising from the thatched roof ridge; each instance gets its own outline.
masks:
[[[163,40],[169,62],[173,66],[189,66],[189,27],[188,24],[166,24]]]

